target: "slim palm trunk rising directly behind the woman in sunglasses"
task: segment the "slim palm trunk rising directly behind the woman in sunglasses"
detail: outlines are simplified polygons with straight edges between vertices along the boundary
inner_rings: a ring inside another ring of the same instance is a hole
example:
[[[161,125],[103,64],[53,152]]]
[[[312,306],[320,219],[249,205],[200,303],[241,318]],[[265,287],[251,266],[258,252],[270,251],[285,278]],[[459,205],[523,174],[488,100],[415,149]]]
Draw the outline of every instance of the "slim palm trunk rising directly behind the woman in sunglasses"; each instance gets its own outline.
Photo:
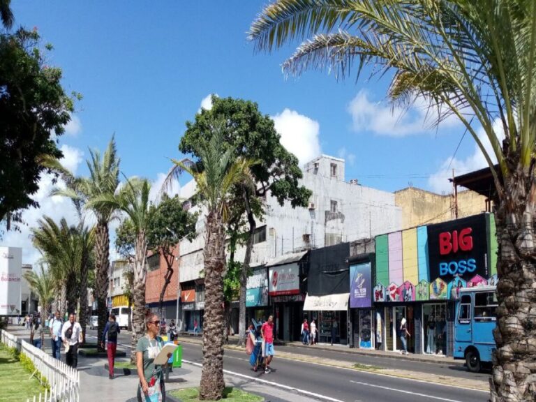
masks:
[[[145,232],[136,235],[134,260],[133,322],[131,363],[136,362],[137,341],[145,333],[145,276],[147,274],[147,240]]]

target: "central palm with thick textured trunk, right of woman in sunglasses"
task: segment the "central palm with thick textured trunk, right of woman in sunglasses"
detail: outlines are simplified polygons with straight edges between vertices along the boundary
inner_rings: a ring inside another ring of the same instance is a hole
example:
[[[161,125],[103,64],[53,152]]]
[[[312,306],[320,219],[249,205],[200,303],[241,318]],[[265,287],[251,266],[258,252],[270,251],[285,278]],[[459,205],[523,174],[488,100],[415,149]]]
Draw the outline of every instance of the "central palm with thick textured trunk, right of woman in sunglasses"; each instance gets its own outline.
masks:
[[[170,170],[169,184],[183,170],[195,179],[198,195],[207,210],[204,246],[204,325],[203,368],[200,382],[200,399],[218,401],[222,398],[223,380],[223,277],[225,274],[225,227],[230,191],[236,184],[244,184],[254,191],[255,184],[250,167],[253,161],[234,158],[234,149],[224,146],[225,124],[219,122],[208,142],[198,149],[204,170],[199,172],[194,163],[178,162]],[[227,149],[227,150],[226,150]]]

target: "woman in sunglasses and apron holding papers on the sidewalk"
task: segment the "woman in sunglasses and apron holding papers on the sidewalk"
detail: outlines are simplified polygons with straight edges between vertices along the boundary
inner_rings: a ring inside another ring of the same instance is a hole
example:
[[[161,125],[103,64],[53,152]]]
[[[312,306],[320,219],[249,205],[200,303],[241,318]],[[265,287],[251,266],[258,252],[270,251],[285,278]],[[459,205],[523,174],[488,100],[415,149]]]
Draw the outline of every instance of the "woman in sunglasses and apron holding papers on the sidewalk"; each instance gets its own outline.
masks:
[[[144,396],[149,396],[149,387],[154,394],[161,394],[158,401],[165,401],[165,384],[163,368],[168,364],[154,364],[154,359],[162,350],[163,339],[158,336],[160,330],[160,320],[158,315],[149,312],[145,316],[145,335],[137,341],[136,346],[136,367],[137,376],[140,378],[140,385],[137,387],[137,401],[144,402]],[[171,353],[168,354],[168,358]]]

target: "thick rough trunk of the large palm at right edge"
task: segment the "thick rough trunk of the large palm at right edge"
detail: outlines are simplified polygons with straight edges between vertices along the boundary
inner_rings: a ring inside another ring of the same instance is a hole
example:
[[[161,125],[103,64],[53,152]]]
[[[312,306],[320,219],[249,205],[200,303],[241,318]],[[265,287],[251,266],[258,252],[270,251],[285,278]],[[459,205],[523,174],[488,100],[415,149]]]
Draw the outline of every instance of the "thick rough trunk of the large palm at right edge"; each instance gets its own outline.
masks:
[[[533,172],[521,168],[504,179],[496,211],[498,238],[497,344],[490,379],[491,401],[536,397],[536,264]]]

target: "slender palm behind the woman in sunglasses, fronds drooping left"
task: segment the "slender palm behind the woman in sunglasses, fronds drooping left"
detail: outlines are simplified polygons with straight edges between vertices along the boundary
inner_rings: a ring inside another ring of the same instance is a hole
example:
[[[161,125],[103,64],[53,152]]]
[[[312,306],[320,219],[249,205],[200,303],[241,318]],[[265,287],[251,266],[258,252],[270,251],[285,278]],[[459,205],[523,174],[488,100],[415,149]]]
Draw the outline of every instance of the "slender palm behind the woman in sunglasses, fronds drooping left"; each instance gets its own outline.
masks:
[[[123,211],[134,226],[135,256],[133,283],[133,325],[131,362],[135,363],[137,341],[144,335],[145,276],[147,274],[147,225],[149,224],[149,192],[147,179],[128,179],[115,195],[101,195],[90,200],[87,207]]]

